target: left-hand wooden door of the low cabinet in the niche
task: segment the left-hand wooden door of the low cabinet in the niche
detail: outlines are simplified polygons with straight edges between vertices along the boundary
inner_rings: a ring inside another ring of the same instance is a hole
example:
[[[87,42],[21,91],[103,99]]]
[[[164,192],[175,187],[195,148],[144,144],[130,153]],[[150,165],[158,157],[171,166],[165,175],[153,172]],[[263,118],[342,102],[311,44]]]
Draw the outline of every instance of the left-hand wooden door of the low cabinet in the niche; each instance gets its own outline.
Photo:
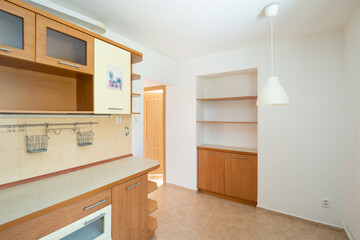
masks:
[[[198,188],[224,194],[225,153],[198,150]]]

